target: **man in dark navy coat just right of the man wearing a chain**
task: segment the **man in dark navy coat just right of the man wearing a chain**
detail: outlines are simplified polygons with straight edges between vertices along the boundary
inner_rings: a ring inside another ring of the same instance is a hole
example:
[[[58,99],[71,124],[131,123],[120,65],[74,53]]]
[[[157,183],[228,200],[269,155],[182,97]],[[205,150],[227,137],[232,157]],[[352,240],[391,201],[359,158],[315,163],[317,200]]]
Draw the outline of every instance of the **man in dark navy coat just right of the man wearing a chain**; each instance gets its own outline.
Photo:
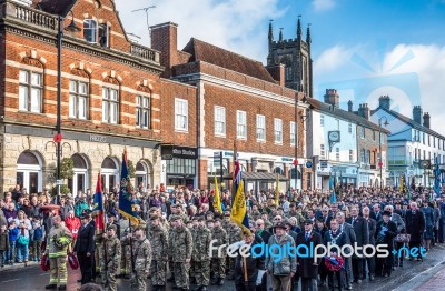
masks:
[[[368,223],[364,218],[358,215],[358,209],[356,207],[350,208],[350,218],[348,218],[346,222],[353,225],[357,247],[363,248],[363,245],[369,243]],[[365,278],[363,271],[363,260],[364,258],[359,258],[357,255],[353,257],[354,282],[357,282],[358,284],[360,284],[362,280]]]

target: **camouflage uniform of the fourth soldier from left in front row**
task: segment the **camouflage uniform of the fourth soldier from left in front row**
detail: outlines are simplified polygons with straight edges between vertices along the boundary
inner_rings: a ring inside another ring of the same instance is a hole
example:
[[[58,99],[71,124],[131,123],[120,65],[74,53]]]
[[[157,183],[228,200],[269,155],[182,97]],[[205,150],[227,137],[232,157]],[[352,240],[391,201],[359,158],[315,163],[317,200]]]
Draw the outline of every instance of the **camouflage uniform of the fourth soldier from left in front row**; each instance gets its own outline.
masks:
[[[190,263],[187,263],[186,260],[191,259],[194,241],[190,231],[185,225],[179,229],[172,229],[169,237],[169,253],[174,262],[176,285],[187,290],[189,288],[188,272]]]

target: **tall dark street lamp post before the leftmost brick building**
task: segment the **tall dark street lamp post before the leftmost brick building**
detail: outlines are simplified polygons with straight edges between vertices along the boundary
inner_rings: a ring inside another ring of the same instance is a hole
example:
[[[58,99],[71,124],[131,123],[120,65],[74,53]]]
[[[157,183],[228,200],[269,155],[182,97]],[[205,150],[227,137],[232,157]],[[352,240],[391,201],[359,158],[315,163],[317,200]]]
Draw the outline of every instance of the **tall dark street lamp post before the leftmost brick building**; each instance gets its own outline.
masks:
[[[65,28],[65,30],[70,31],[70,32],[78,32],[80,31],[80,28],[78,28],[75,23],[75,16],[72,11],[69,11],[71,13],[71,23]],[[61,88],[61,82],[62,82],[62,40],[63,40],[63,17],[59,16],[59,23],[58,23],[58,33],[57,33],[57,123],[56,123],[56,130],[57,134],[55,136],[55,142],[57,143],[57,173],[56,173],[56,179],[57,179],[57,201],[60,198],[60,158],[62,155],[61,153],[61,141],[62,141],[62,133],[61,133],[61,127],[62,127],[62,113],[61,113],[61,103],[62,103],[62,88]]]

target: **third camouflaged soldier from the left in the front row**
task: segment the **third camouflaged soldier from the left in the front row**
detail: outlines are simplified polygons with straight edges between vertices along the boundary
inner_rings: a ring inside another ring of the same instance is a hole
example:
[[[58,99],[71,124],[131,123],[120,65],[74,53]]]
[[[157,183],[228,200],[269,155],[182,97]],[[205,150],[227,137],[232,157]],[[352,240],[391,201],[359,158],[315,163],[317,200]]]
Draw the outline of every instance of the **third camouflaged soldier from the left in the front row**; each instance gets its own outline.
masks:
[[[166,290],[166,271],[168,261],[168,232],[160,224],[158,215],[150,217],[149,237],[152,249],[151,284],[152,291]]]

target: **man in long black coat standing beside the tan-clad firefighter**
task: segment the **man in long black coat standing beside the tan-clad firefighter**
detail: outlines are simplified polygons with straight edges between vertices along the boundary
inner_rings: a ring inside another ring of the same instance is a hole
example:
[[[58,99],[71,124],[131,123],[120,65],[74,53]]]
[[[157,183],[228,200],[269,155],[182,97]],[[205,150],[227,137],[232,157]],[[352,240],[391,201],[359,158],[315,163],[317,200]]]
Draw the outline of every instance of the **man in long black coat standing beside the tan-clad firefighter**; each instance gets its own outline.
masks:
[[[82,214],[78,238],[75,245],[75,252],[79,260],[80,272],[82,274],[81,284],[91,282],[92,265],[95,258],[95,227],[89,222],[90,215]]]

